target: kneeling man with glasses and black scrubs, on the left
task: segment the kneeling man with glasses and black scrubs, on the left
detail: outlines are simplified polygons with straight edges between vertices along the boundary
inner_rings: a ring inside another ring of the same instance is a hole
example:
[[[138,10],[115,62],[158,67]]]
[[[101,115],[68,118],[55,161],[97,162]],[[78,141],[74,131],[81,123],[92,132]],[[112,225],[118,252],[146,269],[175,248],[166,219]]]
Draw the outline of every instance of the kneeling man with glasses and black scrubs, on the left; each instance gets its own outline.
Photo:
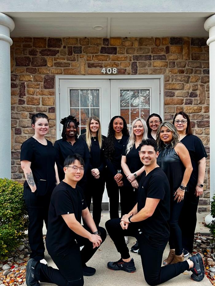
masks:
[[[38,281],[60,286],[84,285],[83,275],[91,276],[96,272],[85,263],[104,242],[106,231],[96,227],[84,193],[76,186],[84,175],[84,161],[79,154],[65,159],[64,172],[65,179],[51,196],[46,238],[48,253],[59,270],[30,259],[26,267],[27,286],[38,286]],[[80,224],[81,216],[84,227]]]

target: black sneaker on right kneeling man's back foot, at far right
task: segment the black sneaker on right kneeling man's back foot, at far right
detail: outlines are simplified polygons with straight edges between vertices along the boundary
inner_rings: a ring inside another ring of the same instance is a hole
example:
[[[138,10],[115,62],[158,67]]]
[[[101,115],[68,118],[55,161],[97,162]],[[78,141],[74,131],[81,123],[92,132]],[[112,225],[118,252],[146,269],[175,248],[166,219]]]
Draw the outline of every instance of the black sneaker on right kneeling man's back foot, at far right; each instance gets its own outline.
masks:
[[[205,277],[205,267],[204,267],[204,261],[199,253],[196,255],[193,255],[189,257],[191,261],[193,261],[194,266],[193,268],[190,268],[189,270],[193,272],[191,275],[191,279],[194,281],[201,281]]]

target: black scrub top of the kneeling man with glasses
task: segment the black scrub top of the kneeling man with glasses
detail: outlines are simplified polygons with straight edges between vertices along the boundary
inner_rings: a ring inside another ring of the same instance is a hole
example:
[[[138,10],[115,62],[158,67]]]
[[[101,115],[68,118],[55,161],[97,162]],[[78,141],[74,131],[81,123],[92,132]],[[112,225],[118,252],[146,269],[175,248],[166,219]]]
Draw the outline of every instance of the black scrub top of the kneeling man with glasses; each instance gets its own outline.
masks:
[[[74,214],[81,223],[81,212],[87,208],[84,193],[79,186],[72,188],[61,181],[54,189],[49,205],[46,246],[49,252],[62,252],[76,243],[76,233],[72,231],[61,215]]]

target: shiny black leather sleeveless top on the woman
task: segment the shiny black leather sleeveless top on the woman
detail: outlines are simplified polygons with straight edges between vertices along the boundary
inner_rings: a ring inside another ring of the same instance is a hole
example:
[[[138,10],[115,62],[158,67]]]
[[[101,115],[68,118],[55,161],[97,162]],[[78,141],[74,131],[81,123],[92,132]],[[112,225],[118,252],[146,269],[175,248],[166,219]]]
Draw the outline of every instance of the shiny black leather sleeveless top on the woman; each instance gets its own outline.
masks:
[[[170,183],[170,192],[174,193],[183,180],[185,167],[170,144],[165,144],[160,148],[157,163],[166,174]]]

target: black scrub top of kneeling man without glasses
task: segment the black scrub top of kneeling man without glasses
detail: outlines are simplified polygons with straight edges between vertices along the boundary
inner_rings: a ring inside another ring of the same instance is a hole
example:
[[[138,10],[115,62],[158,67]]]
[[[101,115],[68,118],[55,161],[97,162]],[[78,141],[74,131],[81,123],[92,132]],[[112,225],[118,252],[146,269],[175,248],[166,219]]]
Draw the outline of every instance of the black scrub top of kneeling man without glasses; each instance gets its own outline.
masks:
[[[170,217],[170,185],[161,168],[155,168],[146,176],[140,176],[138,188],[137,211],[144,208],[147,198],[160,199],[153,215],[140,222],[146,236],[152,238],[168,238],[170,231],[167,221]]]

